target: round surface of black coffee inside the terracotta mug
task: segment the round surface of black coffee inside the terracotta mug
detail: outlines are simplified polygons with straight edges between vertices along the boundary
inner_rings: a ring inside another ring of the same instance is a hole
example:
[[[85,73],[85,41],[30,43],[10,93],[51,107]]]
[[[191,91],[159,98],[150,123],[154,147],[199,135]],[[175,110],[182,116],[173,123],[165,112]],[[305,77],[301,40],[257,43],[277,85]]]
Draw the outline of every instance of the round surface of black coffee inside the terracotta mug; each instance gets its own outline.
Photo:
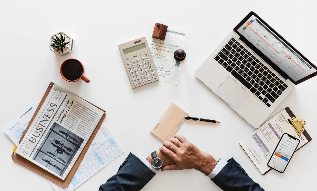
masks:
[[[68,60],[64,64],[63,74],[70,81],[78,80],[81,77],[82,72],[82,65],[77,60]]]

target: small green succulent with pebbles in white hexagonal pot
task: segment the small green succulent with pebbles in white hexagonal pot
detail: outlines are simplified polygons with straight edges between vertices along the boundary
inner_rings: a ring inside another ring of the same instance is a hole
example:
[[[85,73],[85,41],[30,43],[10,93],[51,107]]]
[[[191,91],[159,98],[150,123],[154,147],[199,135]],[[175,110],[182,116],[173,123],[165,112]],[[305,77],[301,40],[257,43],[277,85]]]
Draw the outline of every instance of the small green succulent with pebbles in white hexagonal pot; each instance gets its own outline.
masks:
[[[63,32],[51,36],[49,42],[49,49],[57,55],[64,56],[73,51],[74,40]]]

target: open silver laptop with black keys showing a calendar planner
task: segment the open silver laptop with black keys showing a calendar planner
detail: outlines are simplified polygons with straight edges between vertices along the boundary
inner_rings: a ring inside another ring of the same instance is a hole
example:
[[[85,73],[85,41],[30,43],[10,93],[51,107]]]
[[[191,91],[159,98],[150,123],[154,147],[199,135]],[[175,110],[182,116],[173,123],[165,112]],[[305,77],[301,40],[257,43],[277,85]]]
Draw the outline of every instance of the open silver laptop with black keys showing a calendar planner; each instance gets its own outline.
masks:
[[[195,72],[254,128],[296,84],[316,75],[316,66],[252,11]]]

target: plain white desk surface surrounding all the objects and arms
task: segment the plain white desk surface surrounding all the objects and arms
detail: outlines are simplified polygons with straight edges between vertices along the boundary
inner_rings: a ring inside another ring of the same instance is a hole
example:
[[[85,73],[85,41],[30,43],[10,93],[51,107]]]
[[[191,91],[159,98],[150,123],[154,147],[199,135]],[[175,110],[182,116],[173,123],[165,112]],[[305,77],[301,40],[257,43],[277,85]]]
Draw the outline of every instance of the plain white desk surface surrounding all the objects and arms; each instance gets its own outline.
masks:
[[[271,171],[263,176],[239,145],[255,129],[194,76],[196,69],[250,10],[317,64],[314,4],[243,2],[2,1],[1,127],[40,99],[49,82],[105,109],[105,122],[126,152],[77,188],[98,190],[117,172],[129,152],[149,155],[159,148],[162,143],[149,130],[170,102],[175,102],[190,115],[221,121],[220,125],[186,121],[180,128],[178,134],[201,150],[215,158],[234,157],[265,190],[310,190],[315,185],[317,170],[317,77],[297,85],[272,114],[290,107],[297,117],[307,121],[305,129],[313,141],[296,152],[284,174]],[[154,82],[132,89],[118,45],[147,36],[155,22],[190,30],[179,84]],[[74,52],[67,56],[57,56],[49,50],[49,36],[59,31],[75,39]],[[89,84],[63,80],[60,64],[67,58],[81,60],[91,80]],[[0,133],[0,145],[0,190],[53,190],[45,178],[11,160],[14,144],[4,133]],[[220,188],[195,170],[183,170],[158,172],[143,190]]]

